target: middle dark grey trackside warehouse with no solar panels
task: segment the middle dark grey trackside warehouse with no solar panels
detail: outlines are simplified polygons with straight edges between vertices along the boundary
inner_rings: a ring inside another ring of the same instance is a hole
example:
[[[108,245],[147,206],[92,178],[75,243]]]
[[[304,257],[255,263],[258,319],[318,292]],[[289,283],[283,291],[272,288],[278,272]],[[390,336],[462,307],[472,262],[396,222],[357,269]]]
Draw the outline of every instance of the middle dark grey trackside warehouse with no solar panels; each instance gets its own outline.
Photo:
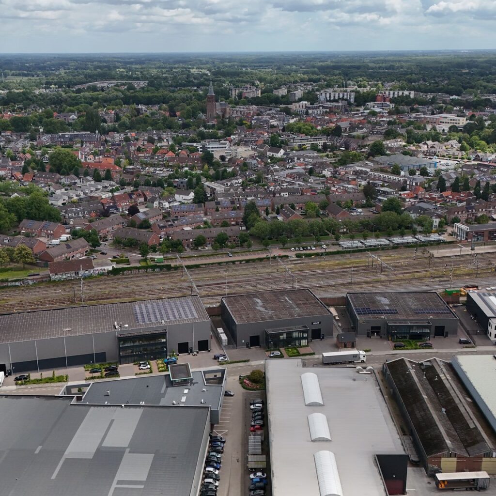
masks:
[[[332,313],[309,289],[227,296],[221,316],[237,347],[307,346],[332,336]]]

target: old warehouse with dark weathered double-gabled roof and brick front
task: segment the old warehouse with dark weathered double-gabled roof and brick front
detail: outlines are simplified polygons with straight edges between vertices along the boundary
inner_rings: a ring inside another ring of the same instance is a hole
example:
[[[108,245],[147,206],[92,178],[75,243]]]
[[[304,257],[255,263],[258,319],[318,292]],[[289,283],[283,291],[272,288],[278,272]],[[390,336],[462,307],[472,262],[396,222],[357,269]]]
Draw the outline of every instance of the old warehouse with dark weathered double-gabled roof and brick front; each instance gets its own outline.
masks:
[[[398,358],[383,372],[416,449],[410,456],[419,456],[428,475],[496,473],[494,436],[482,429],[448,362]]]

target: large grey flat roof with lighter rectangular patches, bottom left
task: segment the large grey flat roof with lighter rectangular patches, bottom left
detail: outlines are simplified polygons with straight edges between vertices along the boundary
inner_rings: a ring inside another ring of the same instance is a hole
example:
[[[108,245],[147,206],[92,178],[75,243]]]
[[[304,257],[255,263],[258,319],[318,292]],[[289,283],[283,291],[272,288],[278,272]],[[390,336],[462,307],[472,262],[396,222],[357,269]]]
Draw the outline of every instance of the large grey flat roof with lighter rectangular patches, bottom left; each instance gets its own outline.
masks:
[[[0,397],[1,494],[190,494],[208,408],[71,400]]]

